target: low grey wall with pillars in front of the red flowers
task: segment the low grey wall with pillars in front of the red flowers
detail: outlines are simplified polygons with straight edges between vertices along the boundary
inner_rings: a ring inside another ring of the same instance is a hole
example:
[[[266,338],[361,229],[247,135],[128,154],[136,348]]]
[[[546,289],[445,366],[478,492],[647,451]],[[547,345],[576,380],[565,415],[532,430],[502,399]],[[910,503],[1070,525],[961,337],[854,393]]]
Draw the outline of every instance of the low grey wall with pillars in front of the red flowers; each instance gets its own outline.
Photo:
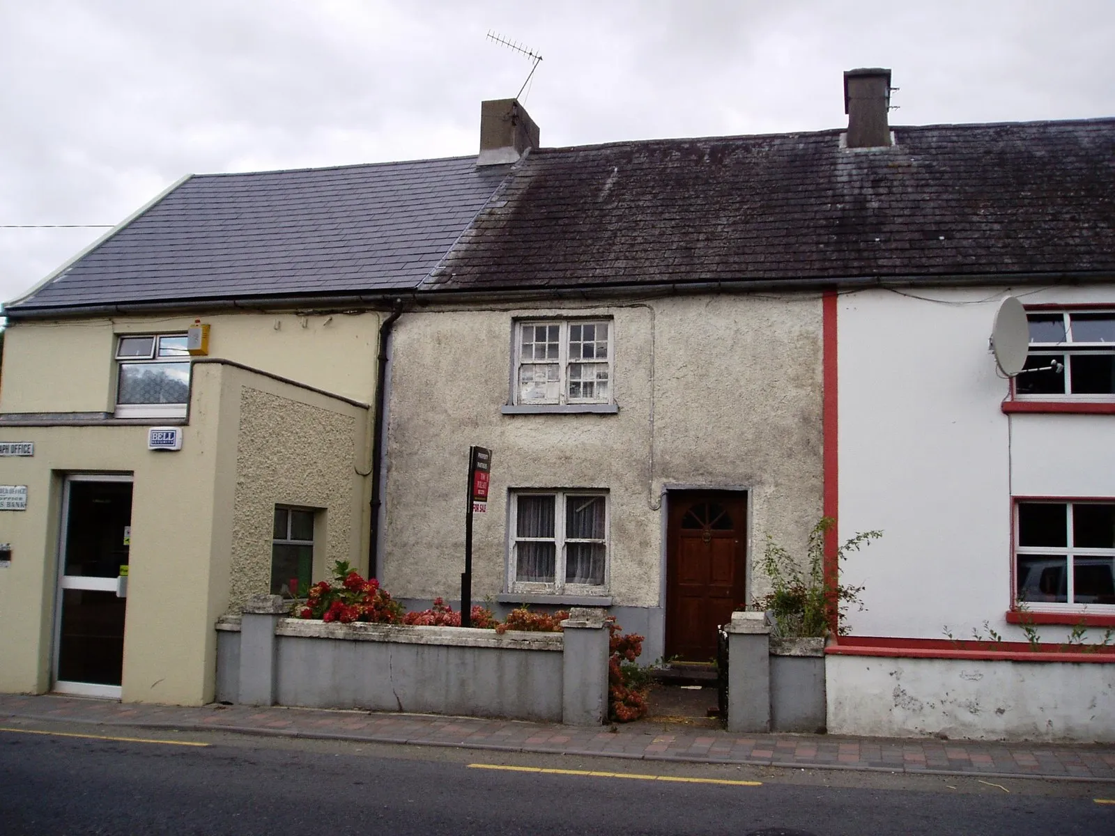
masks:
[[[217,622],[219,699],[570,725],[607,717],[608,629],[599,610],[574,609],[564,634],[498,635],[282,618],[288,605],[256,601],[241,619]]]

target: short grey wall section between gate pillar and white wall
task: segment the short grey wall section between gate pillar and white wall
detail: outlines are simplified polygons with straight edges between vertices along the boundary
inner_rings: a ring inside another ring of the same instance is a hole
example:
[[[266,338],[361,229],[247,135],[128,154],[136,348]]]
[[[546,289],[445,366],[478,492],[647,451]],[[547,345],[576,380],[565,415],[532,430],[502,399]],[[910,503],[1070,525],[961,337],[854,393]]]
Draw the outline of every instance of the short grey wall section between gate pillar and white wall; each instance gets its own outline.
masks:
[[[825,728],[825,640],[770,640],[770,730]]]

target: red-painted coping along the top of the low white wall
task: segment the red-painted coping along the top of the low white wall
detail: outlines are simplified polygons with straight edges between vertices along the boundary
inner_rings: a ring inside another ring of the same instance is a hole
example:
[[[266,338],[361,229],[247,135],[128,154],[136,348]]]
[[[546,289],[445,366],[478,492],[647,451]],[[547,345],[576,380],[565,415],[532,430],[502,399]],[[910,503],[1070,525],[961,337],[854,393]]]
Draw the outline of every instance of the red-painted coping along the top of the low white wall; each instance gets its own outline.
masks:
[[[844,635],[825,653],[846,657],[891,657],[899,659],[972,659],[1015,662],[1105,662],[1115,663],[1115,648],[1078,644],[1047,644],[1031,650],[1026,642],[992,642],[948,639],[905,639],[878,635]]]

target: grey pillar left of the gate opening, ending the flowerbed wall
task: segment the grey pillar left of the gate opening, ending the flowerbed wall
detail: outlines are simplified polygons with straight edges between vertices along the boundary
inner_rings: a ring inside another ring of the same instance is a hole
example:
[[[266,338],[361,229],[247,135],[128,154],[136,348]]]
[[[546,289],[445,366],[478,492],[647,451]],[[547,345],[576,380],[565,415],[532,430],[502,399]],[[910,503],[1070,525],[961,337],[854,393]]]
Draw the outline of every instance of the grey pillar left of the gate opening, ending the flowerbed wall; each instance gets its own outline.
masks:
[[[604,611],[574,606],[565,629],[562,677],[562,722],[600,726],[608,719],[610,633]]]

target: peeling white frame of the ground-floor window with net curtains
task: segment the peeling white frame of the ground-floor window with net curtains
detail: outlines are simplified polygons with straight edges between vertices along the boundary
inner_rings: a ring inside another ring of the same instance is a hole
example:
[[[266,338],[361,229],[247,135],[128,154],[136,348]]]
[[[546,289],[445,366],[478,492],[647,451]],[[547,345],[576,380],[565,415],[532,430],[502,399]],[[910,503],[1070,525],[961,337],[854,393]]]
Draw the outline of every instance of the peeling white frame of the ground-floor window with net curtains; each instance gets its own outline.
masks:
[[[518,499],[523,496],[552,496],[554,497],[554,536],[551,537],[520,537],[518,536]],[[565,537],[565,505],[570,499],[578,497],[600,497],[604,500],[604,538],[599,539],[576,539]],[[537,489],[525,488],[511,490],[511,502],[508,507],[507,524],[507,591],[524,594],[552,594],[552,595],[607,595],[611,586],[612,573],[612,504],[608,490],[600,488],[565,488],[565,489]],[[554,582],[540,583],[537,581],[520,581],[515,577],[518,565],[517,544],[520,542],[545,542],[553,539],[555,544],[554,558]],[[566,583],[565,582],[565,545],[566,543],[603,543],[604,546],[604,582],[603,584],[589,583]]]

